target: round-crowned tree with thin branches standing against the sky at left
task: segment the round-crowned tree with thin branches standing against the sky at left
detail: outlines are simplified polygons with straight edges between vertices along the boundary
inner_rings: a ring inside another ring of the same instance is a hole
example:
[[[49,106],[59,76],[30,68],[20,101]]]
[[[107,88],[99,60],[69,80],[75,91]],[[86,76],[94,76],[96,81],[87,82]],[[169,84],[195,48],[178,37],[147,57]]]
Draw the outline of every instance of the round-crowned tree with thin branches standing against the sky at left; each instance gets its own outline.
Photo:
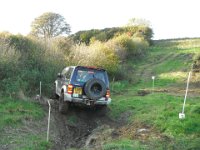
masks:
[[[70,26],[60,14],[47,12],[35,18],[31,24],[31,35],[52,38],[61,34],[69,34]]]

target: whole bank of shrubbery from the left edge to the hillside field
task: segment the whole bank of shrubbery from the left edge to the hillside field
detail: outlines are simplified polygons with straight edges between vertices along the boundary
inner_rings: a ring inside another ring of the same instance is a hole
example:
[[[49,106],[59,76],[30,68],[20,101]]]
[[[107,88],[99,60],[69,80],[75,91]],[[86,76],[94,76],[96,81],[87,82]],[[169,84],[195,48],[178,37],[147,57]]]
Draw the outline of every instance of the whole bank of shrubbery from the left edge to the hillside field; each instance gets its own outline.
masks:
[[[143,56],[149,46],[146,36],[136,34],[136,27],[131,30],[131,27],[91,30],[78,32],[81,34],[73,38],[51,39],[1,33],[0,95],[39,93],[40,81],[42,92],[50,93],[57,73],[68,65],[102,67],[111,77],[128,80],[132,68],[125,65],[126,60]],[[82,38],[82,44],[74,43],[77,37]]]

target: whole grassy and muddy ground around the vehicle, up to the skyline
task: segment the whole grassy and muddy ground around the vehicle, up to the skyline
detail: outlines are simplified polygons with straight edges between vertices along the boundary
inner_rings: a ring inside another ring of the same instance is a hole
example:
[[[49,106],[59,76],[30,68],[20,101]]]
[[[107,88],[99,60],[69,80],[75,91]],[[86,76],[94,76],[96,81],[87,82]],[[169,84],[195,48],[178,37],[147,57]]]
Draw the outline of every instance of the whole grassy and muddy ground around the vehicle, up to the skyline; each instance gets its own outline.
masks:
[[[199,53],[200,39],[154,41],[144,58],[126,61],[133,69],[128,74],[132,82],[110,79],[107,116],[77,108],[59,116],[53,107],[50,142],[46,142],[46,104],[0,98],[0,149],[200,149],[199,72],[192,72],[186,118],[178,117],[188,73]]]

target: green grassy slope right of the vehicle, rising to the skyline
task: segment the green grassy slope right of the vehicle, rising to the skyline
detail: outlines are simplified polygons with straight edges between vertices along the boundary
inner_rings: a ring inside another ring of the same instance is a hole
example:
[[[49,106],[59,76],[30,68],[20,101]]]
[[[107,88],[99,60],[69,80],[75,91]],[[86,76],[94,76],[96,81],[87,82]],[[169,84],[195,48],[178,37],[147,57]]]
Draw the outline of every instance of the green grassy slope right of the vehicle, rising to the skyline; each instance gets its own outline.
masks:
[[[188,72],[193,58],[200,53],[200,39],[159,41],[149,50],[149,54],[140,62],[133,62],[134,75],[138,80],[134,84],[117,82],[119,85],[112,95],[112,118],[121,118],[130,112],[128,124],[150,126],[163,138],[150,137],[145,141],[131,139],[109,142],[104,149],[199,149],[200,148],[200,96],[189,93],[185,114],[180,120],[184,96],[178,93],[155,92],[138,96],[140,89],[152,89],[151,76],[155,75],[155,89],[185,89]],[[195,44],[195,45],[194,45]],[[113,83],[114,85],[114,83]],[[115,88],[115,87],[114,87]],[[121,90],[120,90],[121,88]],[[164,137],[167,137],[166,139]],[[137,146],[134,148],[134,141]],[[125,148],[123,148],[123,146]]]

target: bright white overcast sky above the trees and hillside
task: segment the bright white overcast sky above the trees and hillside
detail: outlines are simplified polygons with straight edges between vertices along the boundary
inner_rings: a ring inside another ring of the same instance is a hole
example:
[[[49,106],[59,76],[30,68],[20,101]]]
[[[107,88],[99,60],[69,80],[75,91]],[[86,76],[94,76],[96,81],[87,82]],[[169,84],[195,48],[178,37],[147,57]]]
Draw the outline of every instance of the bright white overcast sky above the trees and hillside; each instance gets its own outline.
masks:
[[[199,0],[0,0],[0,32],[26,35],[44,12],[64,16],[72,33],[150,21],[154,39],[200,37]]]

